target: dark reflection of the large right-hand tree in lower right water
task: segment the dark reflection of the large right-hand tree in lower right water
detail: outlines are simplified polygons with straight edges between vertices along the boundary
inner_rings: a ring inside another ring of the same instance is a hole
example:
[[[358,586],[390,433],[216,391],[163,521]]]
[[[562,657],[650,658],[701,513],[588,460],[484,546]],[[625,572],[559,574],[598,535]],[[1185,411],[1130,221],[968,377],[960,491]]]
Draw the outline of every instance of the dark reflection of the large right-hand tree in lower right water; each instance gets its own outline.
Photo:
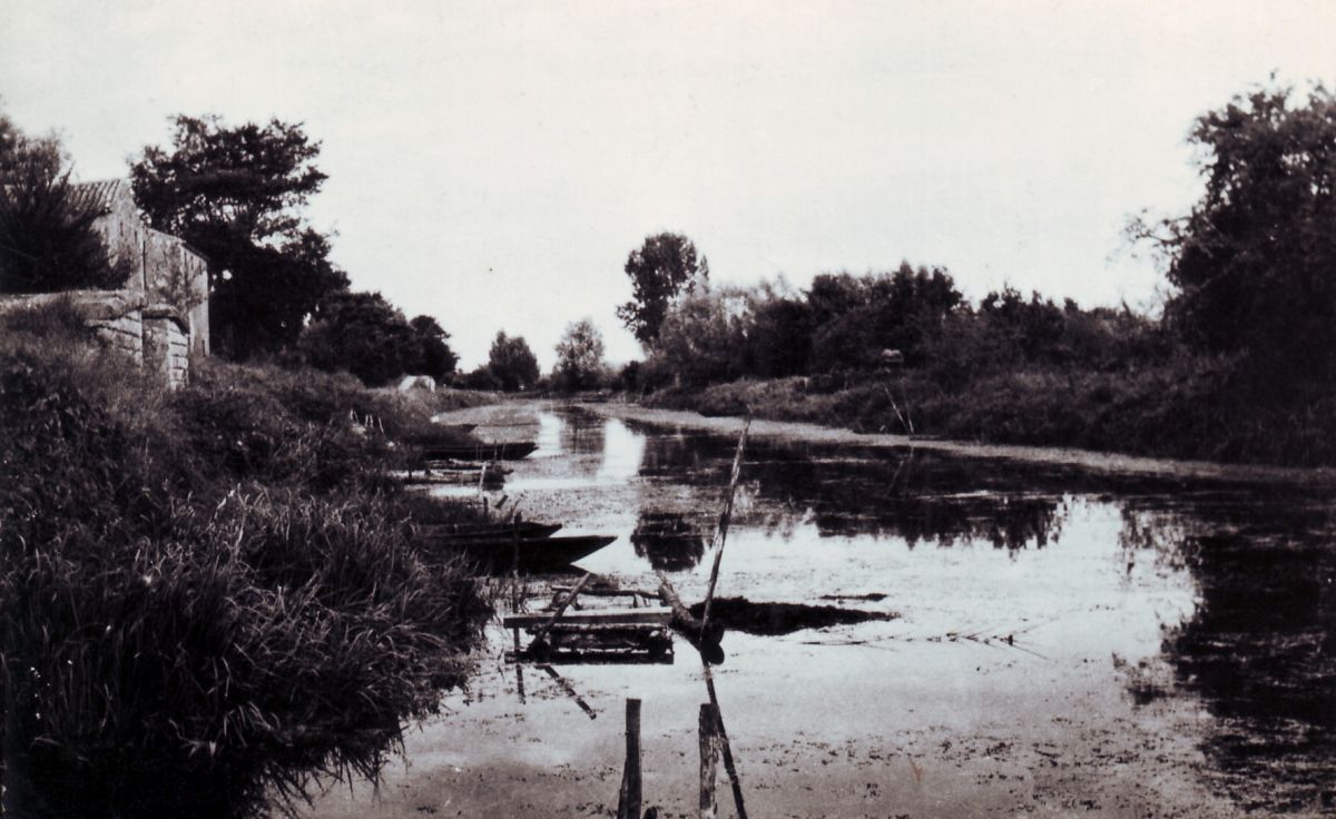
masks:
[[[1272,811],[1336,795],[1336,553],[1329,524],[1304,525],[1313,512],[1236,505],[1190,521],[1174,557],[1200,604],[1166,659],[1217,719],[1204,751],[1225,790]]]

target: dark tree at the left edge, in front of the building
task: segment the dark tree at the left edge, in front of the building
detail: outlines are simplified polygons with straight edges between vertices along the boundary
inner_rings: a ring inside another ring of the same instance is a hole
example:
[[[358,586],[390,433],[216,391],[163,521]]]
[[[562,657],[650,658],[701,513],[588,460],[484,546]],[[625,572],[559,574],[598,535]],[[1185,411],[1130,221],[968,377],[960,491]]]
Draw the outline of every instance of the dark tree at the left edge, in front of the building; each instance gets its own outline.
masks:
[[[0,116],[0,291],[122,286],[128,265],[111,262],[96,219],[75,196],[60,143]]]

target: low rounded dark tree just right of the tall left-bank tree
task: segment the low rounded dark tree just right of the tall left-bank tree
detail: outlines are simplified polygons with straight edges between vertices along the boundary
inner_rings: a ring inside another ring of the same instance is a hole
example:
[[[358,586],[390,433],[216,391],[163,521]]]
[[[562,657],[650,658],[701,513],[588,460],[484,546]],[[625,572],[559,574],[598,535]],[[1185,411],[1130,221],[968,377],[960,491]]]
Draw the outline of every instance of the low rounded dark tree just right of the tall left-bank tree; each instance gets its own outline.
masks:
[[[367,386],[418,371],[421,335],[379,293],[334,293],[322,301],[298,341],[318,369],[347,370]]]

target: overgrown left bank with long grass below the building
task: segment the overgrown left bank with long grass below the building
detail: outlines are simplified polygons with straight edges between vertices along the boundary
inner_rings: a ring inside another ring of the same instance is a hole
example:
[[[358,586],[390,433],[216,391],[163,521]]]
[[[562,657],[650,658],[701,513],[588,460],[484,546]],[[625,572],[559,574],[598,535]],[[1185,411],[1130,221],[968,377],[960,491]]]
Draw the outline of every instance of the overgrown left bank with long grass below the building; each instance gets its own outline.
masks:
[[[222,363],[163,393],[59,303],[4,323],[7,810],[262,815],[374,776],[486,611],[390,477],[460,399]]]

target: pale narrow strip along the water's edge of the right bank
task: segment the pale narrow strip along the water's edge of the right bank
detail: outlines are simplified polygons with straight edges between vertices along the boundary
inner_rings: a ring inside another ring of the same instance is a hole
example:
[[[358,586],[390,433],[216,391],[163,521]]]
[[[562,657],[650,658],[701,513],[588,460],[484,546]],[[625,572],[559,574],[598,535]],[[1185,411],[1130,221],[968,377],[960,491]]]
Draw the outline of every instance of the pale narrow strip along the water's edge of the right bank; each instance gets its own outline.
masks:
[[[582,403],[592,413],[715,433],[736,433],[741,418],[735,416],[701,416],[692,410],[664,409],[637,403],[607,402]],[[978,444],[971,441],[945,441],[887,433],[856,433],[850,429],[823,426],[803,421],[775,421],[755,418],[751,434],[782,441],[812,444],[844,444],[886,449],[918,449],[974,458],[1003,458],[1010,461],[1073,466],[1102,473],[1161,477],[1172,480],[1212,480],[1228,482],[1303,484],[1305,486],[1336,486],[1336,469],[1303,469],[1293,466],[1265,466],[1256,464],[1218,464],[1210,461],[1177,461],[1106,452],[1092,452],[1061,446],[1021,446],[1010,444]]]

